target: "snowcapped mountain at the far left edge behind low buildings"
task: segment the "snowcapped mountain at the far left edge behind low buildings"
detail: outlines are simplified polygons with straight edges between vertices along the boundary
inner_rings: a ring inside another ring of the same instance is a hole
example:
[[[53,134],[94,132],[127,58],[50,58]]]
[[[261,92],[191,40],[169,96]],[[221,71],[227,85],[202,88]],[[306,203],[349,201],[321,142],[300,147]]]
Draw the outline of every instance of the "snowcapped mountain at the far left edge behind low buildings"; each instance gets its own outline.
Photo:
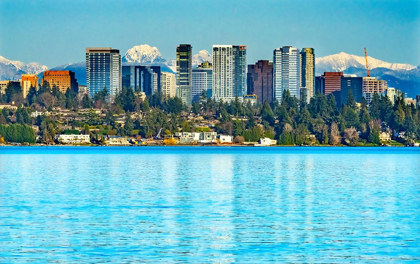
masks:
[[[19,80],[22,74],[38,74],[48,67],[38,62],[24,63],[0,56],[0,80]]]

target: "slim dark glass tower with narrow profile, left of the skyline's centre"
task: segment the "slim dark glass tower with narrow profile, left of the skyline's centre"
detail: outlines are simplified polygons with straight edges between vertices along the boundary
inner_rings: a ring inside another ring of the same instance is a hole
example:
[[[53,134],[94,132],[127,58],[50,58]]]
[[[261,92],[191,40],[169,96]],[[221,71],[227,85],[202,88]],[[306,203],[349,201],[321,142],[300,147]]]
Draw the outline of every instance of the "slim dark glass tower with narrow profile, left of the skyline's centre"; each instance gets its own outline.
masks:
[[[176,94],[186,105],[191,105],[192,47],[181,44],[176,48]]]

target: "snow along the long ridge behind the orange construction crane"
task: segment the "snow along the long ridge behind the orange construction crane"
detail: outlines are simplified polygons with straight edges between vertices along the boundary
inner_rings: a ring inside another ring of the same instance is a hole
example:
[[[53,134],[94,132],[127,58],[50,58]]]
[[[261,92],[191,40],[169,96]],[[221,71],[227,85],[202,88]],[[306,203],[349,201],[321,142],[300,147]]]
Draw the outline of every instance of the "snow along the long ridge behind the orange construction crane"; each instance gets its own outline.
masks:
[[[366,61],[363,56],[356,56],[340,52],[338,54],[316,58],[316,73],[322,74],[326,71],[345,71],[350,67],[365,68]],[[385,68],[390,70],[412,70],[416,66],[402,63],[390,63],[368,56],[369,69]]]

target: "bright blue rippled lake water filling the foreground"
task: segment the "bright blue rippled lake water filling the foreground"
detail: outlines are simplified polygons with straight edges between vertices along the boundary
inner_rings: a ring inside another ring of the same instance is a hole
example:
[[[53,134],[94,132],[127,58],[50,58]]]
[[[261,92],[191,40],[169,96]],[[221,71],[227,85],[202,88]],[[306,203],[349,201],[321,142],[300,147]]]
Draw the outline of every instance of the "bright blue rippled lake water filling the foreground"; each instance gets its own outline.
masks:
[[[0,263],[417,262],[420,148],[0,147]]]

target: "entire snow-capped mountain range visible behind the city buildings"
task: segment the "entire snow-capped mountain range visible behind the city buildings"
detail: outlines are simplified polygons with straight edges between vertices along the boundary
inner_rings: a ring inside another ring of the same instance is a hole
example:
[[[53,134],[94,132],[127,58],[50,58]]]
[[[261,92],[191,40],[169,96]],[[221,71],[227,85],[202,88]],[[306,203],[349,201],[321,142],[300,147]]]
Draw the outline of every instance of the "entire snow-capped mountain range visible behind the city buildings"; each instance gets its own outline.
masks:
[[[206,50],[200,50],[193,55],[193,67],[204,61],[212,62],[212,56]],[[338,54],[316,58],[315,74],[342,71],[344,74],[366,76],[365,57],[340,52]],[[176,61],[167,60],[158,48],[147,44],[134,46],[122,56],[123,65],[158,65],[162,71],[175,72]],[[370,75],[386,80],[389,87],[395,87],[407,93],[409,97],[420,94],[420,66],[410,64],[390,63],[368,57]],[[17,80],[22,74],[42,75],[48,67],[37,62],[25,64],[20,61],[8,60],[0,56],[0,80]],[[51,70],[74,71],[79,84],[86,84],[86,63],[77,62],[60,65]]]

